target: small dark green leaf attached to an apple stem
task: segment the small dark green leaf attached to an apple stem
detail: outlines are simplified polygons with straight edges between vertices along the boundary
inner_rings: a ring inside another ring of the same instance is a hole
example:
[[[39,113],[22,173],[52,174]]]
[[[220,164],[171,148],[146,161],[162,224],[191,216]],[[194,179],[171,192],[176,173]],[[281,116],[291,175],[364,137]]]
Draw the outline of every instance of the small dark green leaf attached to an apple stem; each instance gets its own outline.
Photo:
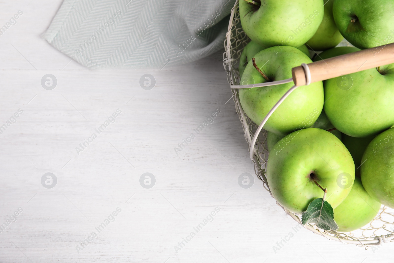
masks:
[[[315,223],[318,228],[324,230],[338,230],[334,220],[333,207],[323,198],[317,198],[310,202],[307,211],[302,213],[302,225]]]

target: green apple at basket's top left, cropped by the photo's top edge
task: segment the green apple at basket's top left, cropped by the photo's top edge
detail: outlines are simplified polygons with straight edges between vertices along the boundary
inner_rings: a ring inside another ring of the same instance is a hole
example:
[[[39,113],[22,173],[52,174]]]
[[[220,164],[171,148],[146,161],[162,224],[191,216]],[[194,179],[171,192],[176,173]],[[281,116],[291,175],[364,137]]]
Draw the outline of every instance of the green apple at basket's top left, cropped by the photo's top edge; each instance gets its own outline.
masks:
[[[323,20],[322,0],[240,0],[240,19],[249,38],[264,47],[299,47]]]

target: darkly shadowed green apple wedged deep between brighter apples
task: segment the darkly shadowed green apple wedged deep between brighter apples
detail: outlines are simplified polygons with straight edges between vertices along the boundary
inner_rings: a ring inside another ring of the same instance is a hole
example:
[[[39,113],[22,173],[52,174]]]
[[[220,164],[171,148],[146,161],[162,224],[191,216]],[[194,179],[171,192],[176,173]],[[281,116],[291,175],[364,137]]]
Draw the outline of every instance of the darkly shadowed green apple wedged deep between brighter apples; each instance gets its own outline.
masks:
[[[348,148],[351,157],[353,157],[355,174],[360,177],[360,166],[362,155],[368,144],[375,138],[374,135],[365,138],[355,138],[346,134],[342,134],[342,143]]]

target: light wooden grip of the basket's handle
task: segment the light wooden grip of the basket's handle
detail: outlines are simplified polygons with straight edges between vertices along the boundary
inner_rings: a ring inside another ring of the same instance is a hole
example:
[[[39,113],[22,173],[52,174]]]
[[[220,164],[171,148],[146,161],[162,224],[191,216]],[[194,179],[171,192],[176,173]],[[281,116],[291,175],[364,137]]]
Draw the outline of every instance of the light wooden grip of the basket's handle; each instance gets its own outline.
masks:
[[[394,43],[309,63],[310,83],[394,63]],[[302,66],[292,69],[297,86],[306,84]]]

